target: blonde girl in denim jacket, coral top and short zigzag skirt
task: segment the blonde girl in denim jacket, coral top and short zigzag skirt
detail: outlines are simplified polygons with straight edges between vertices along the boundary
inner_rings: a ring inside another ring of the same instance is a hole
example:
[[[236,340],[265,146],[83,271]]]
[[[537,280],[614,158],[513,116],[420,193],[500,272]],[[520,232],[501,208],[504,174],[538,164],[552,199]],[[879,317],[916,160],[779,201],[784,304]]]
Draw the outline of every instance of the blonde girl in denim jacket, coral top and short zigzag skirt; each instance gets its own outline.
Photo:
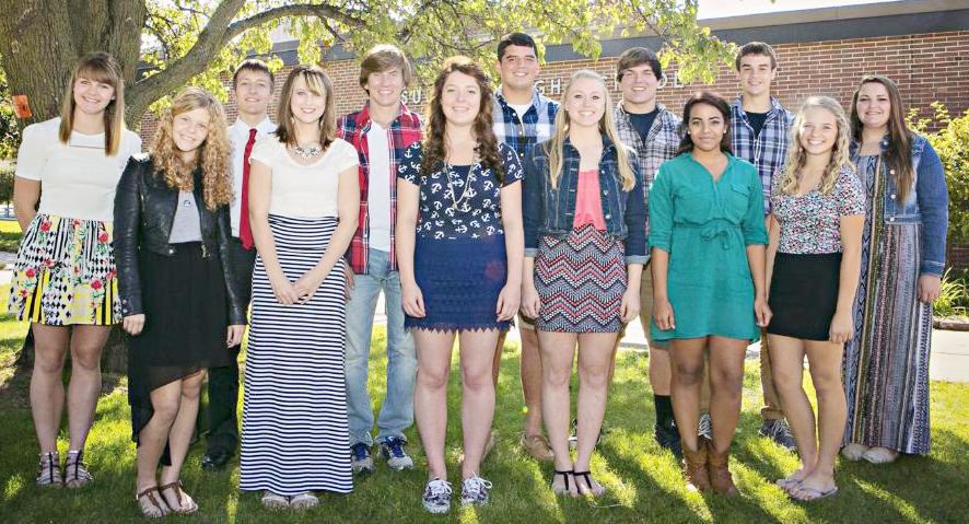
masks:
[[[645,193],[618,139],[602,77],[579,71],[565,88],[552,139],[532,150],[525,177],[523,307],[536,318],[542,414],[557,493],[599,496],[589,475],[606,410],[609,361],[623,323],[639,314],[646,263]],[[569,453],[569,379],[579,343],[575,461]]]

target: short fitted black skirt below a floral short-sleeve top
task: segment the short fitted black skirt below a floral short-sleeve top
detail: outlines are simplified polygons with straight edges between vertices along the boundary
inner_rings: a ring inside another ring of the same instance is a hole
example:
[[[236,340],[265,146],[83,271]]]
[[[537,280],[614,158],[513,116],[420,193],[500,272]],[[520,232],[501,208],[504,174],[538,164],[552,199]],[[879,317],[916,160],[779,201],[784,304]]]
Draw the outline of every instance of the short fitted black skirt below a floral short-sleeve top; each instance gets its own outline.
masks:
[[[778,253],[770,284],[773,316],[767,333],[804,340],[828,340],[838,307],[841,254]]]

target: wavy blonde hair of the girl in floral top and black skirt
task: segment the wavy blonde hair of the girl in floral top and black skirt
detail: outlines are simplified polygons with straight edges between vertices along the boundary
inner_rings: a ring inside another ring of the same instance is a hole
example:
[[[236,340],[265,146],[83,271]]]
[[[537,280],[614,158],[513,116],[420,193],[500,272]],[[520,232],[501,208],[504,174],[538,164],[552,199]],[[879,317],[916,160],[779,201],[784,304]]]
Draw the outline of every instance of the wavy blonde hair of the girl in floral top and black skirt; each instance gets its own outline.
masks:
[[[804,123],[805,115],[810,109],[826,109],[834,115],[834,121],[838,124],[838,137],[834,139],[834,147],[831,148],[831,160],[825,168],[825,175],[821,178],[821,194],[829,195],[834,188],[838,181],[838,173],[842,167],[852,167],[851,162],[851,123],[844,108],[834,98],[830,96],[812,96],[801,106],[797,117],[794,118],[794,125],[791,126],[791,149],[787,150],[787,163],[784,165],[784,177],[781,178],[780,190],[782,195],[794,195],[797,193],[797,186],[801,184],[801,174],[804,164],[807,162],[807,152],[801,145],[801,125]]]

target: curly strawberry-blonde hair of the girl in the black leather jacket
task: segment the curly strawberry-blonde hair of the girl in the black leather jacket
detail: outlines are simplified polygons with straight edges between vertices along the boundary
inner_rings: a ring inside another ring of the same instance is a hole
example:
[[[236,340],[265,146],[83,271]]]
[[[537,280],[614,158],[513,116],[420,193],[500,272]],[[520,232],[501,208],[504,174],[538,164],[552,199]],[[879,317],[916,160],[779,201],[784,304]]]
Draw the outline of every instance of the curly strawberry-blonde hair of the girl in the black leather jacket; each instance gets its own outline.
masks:
[[[175,116],[198,108],[209,110],[209,135],[199,145],[199,153],[191,165],[182,161],[178,148],[172,138]],[[156,173],[165,178],[170,187],[180,191],[191,191],[195,187],[192,173],[197,165],[202,167],[202,197],[206,207],[215,209],[232,201],[232,168],[229,132],[222,104],[212,93],[201,88],[185,88],[172,101],[172,108],[165,110],[159,121],[159,130],[148,148],[154,161]]]

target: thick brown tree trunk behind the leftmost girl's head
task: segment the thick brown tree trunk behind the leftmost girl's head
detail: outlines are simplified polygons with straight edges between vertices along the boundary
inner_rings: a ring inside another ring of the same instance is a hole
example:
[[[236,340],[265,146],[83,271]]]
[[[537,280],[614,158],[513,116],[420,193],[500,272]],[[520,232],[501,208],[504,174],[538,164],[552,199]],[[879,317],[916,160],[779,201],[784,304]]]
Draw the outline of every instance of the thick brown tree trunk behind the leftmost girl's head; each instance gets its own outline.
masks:
[[[33,112],[21,126],[59,115],[74,63],[87,53],[114,55],[126,84],[135,84],[143,0],[0,0],[0,12],[10,93],[27,95]]]

